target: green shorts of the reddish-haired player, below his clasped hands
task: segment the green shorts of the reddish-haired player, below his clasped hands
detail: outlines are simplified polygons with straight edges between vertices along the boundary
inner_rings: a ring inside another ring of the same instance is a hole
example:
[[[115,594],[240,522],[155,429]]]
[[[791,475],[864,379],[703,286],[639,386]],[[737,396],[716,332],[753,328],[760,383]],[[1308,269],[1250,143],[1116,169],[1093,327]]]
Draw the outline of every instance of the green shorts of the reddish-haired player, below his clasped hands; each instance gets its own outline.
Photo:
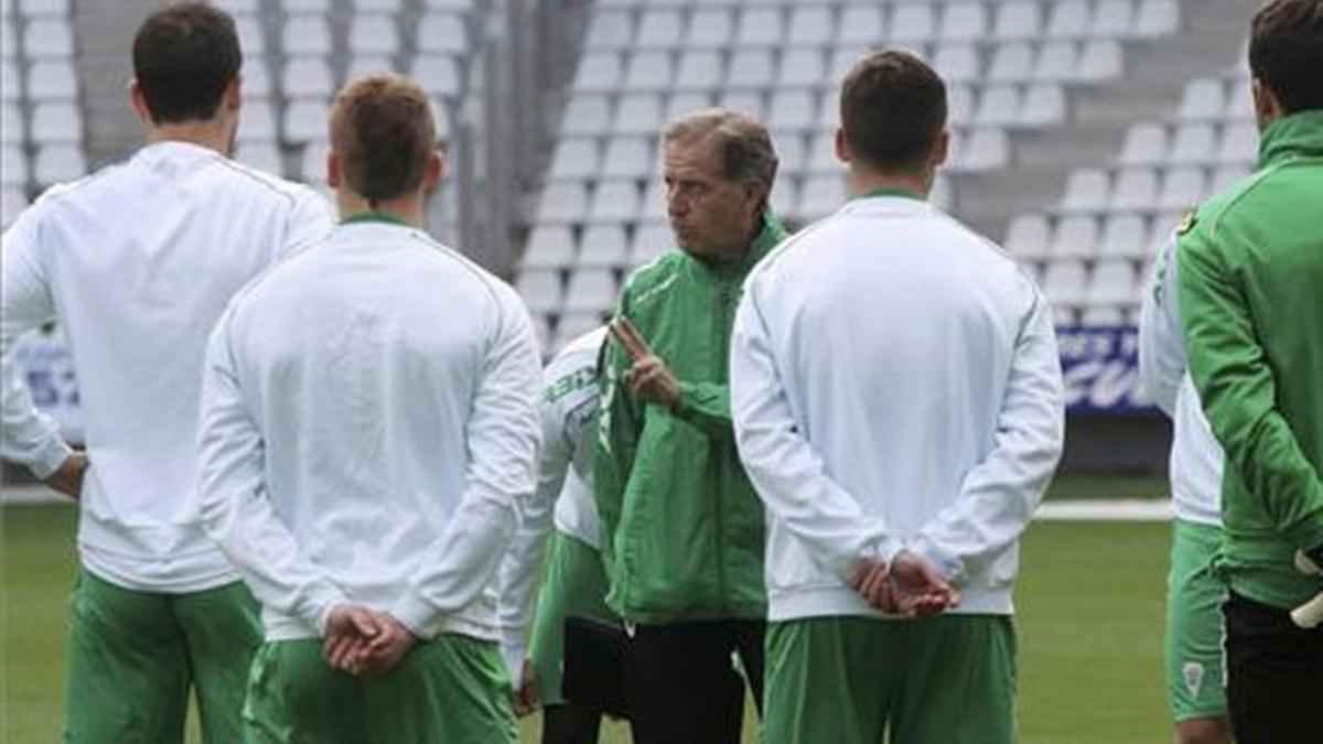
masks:
[[[439,635],[390,670],[335,670],[321,641],[269,641],[249,676],[247,744],[515,744],[511,683],[495,642]]]

